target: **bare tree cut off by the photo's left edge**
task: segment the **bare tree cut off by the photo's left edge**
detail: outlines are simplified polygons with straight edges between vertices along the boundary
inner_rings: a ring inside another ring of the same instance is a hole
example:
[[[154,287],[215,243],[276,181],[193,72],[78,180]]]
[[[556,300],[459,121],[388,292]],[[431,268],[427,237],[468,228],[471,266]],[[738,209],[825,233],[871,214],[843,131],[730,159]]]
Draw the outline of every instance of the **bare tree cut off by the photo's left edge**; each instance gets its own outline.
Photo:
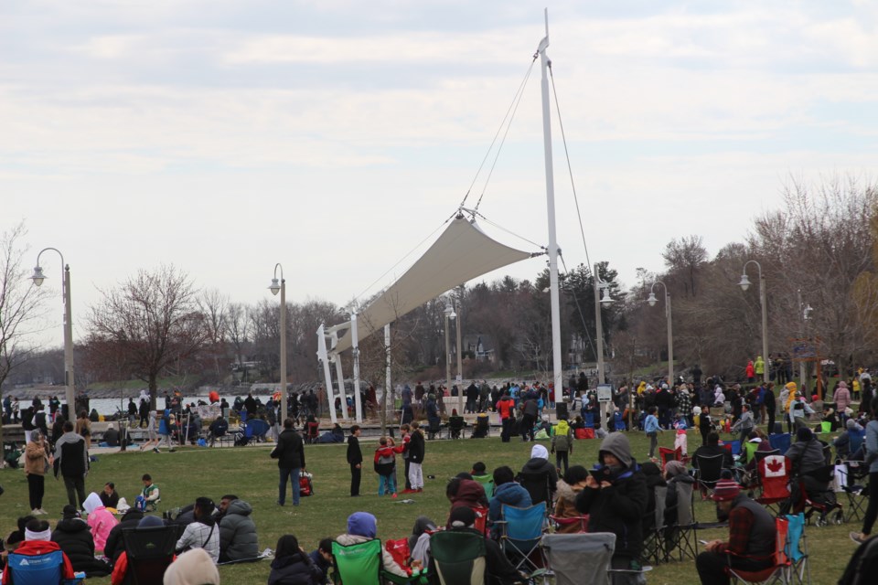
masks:
[[[40,316],[41,292],[27,279],[22,246],[27,230],[23,223],[0,235],[0,401],[3,384],[16,367],[21,366],[34,350],[31,345],[35,321]],[[3,442],[3,420],[0,417],[0,445]],[[0,462],[2,465],[2,462]]]

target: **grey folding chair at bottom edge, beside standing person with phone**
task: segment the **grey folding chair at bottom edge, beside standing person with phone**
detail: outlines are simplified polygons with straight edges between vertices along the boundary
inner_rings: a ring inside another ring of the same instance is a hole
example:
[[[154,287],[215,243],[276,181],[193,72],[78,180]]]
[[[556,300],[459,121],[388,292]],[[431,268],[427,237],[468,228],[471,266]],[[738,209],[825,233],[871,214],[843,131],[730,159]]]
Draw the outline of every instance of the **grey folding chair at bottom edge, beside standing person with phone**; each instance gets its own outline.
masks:
[[[555,585],[605,585],[616,550],[616,535],[546,534],[542,536],[542,549],[555,574]]]

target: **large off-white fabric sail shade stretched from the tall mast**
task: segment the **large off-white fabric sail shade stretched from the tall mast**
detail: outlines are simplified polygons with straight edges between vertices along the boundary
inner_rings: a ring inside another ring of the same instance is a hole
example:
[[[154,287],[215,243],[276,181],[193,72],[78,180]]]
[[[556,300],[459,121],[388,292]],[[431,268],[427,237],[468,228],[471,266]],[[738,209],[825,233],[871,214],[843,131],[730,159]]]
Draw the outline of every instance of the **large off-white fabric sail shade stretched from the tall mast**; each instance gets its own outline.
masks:
[[[458,216],[412,268],[359,311],[359,340],[455,286],[530,256],[488,238],[475,223]],[[338,343],[331,351],[338,354],[351,347],[353,340],[349,322],[337,331]]]

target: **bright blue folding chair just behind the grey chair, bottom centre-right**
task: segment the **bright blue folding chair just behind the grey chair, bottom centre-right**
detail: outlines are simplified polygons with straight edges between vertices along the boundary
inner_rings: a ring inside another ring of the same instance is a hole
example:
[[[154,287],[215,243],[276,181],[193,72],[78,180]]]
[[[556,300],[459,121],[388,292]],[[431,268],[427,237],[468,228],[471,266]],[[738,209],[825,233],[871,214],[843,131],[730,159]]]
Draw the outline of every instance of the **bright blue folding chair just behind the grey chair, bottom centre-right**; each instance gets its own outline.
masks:
[[[542,527],[546,518],[546,503],[540,502],[529,508],[502,505],[500,547],[516,569],[532,573],[545,566],[540,548]]]

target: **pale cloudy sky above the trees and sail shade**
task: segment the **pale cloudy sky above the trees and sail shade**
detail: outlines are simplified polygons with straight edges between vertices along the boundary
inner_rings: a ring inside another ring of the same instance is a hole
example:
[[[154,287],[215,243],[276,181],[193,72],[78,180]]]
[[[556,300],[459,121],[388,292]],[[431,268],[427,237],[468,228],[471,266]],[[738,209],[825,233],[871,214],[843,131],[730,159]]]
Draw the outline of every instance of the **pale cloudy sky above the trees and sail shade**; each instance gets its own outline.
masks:
[[[256,303],[280,262],[289,301],[345,305],[401,275],[471,185],[489,235],[539,250],[544,6],[571,269],[573,187],[588,258],[630,286],[672,238],[742,241],[791,177],[878,177],[867,0],[5,0],[0,231],[23,221],[34,262],[64,254],[76,339],[101,290],[163,263]],[[41,264],[57,286],[57,256]]]

